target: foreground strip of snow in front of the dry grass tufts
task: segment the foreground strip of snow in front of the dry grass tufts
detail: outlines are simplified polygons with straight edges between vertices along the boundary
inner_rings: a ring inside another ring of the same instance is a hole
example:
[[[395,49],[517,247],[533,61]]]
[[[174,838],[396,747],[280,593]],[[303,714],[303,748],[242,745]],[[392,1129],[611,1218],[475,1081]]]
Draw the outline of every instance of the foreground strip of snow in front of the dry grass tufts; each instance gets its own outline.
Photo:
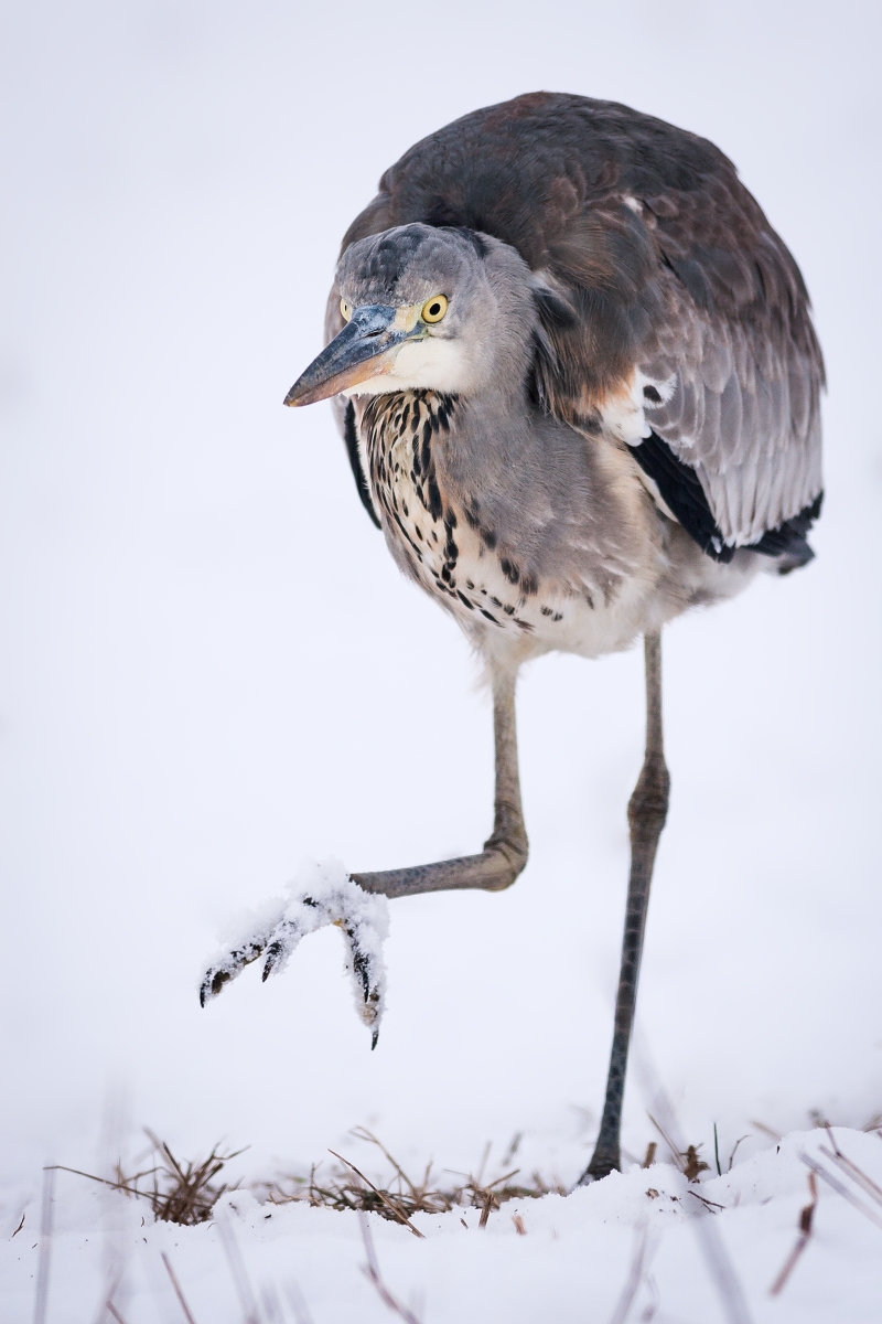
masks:
[[[842,1153],[882,1182],[877,1135],[837,1128]],[[824,1131],[795,1132],[701,1184],[673,1165],[632,1165],[573,1194],[518,1200],[479,1229],[476,1209],[414,1215],[423,1234],[369,1217],[381,1274],[422,1324],[555,1324],[637,1320],[714,1324],[858,1324],[882,1303],[882,1229],[821,1181],[813,1230],[778,1296],[770,1287],[797,1237],[809,1198],[805,1157],[830,1168]],[[165,1254],[198,1324],[365,1324],[391,1316],[362,1275],[358,1217],[305,1202],[222,1197],[198,1227],[152,1223],[144,1206],[58,1174],[49,1283],[52,1324],[93,1317],[119,1280],[114,1304],[127,1324],[179,1319]],[[863,1205],[870,1210],[873,1200]],[[32,1317],[38,1200],[25,1229],[0,1247],[4,1319]],[[520,1234],[516,1217],[525,1230]],[[233,1250],[230,1250],[233,1243]],[[225,1249],[226,1247],[226,1249]],[[245,1274],[235,1272],[241,1258]],[[726,1278],[729,1274],[729,1279]],[[237,1286],[238,1284],[238,1286]],[[741,1304],[739,1304],[741,1299]]]

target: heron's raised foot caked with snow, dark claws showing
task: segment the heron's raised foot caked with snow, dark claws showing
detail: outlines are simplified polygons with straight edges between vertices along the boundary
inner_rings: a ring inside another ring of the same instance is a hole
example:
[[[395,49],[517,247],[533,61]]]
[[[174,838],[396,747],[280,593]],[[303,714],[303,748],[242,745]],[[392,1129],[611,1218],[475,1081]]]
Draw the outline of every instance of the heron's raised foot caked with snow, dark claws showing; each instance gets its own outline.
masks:
[[[377,1046],[385,1000],[382,943],[389,932],[385,896],[370,895],[336,862],[312,865],[288,887],[286,898],[270,902],[251,916],[250,929],[212,963],[200,985],[200,1004],[217,997],[246,965],[263,957],[263,980],[280,974],[307,933],[335,924],[346,940],[346,969],[353,981],[356,1010]]]

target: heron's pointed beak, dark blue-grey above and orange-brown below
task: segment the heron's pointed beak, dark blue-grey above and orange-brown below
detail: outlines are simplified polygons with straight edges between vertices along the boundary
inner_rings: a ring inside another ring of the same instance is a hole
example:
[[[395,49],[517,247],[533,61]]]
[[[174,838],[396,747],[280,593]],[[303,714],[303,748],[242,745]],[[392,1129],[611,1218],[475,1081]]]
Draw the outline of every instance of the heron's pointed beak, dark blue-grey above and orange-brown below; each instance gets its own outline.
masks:
[[[286,405],[313,405],[390,372],[405,340],[423,334],[419,306],[393,308],[366,303],[356,308],[340,335],[298,377],[284,397]]]

